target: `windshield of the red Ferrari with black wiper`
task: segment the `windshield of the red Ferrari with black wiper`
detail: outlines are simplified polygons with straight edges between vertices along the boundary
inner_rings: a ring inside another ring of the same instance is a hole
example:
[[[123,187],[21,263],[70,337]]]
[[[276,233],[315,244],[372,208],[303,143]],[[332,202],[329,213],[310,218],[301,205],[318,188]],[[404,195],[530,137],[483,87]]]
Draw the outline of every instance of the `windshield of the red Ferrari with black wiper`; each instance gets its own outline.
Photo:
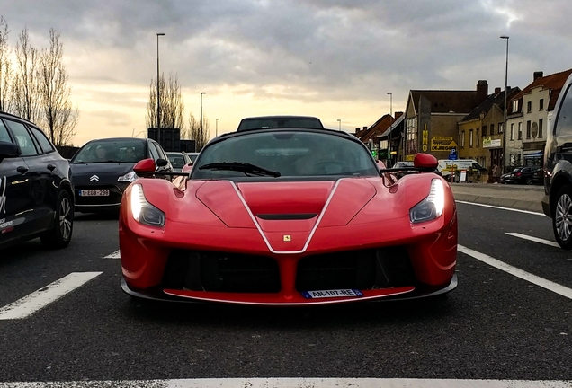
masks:
[[[192,179],[265,176],[378,176],[360,143],[326,133],[269,131],[228,137],[206,146]]]

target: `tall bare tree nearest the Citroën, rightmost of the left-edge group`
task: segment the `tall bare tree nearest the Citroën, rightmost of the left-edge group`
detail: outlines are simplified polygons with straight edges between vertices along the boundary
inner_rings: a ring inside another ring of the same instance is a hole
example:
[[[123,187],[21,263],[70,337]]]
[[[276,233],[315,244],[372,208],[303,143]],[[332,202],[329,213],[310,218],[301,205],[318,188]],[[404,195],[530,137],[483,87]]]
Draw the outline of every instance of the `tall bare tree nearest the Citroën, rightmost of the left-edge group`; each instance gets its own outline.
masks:
[[[64,46],[54,29],[49,30],[49,48],[40,56],[38,92],[41,119],[55,145],[69,145],[76,135],[78,111],[70,101],[67,71],[62,62]]]

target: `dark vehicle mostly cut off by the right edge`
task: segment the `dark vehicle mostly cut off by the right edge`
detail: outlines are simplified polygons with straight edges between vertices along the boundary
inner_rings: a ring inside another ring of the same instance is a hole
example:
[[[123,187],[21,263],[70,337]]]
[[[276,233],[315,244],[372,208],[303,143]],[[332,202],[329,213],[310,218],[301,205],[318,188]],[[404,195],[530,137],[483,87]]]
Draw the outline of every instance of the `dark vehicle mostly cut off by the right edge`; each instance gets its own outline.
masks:
[[[552,218],[559,245],[572,249],[572,75],[562,87],[549,120],[544,147],[542,210]]]

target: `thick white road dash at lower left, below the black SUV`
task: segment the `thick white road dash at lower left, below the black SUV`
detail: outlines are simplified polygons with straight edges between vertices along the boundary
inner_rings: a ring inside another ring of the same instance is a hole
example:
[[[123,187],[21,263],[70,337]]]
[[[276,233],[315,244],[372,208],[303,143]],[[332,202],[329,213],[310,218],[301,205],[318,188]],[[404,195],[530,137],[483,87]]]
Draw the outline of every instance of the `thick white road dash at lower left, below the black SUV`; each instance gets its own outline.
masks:
[[[103,272],[72,272],[46,287],[41,287],[30,295],[22,297],[12,304],[0,308],[0,321],[23,319],[36,313],[50,303],[83,286],[89,280],[101,275]]]

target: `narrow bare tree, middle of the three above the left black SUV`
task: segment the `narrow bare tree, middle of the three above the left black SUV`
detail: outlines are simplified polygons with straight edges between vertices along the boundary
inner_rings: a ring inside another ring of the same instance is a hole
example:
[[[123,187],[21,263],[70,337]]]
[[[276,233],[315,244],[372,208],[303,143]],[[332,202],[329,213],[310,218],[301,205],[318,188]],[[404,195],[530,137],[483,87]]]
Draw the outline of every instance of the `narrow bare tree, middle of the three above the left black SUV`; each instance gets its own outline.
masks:
[[[24,28],[16,44],[16,71],[13,77],[13,112],[36,122],[40,118],[37,48],[31,47],[28,29]]]

